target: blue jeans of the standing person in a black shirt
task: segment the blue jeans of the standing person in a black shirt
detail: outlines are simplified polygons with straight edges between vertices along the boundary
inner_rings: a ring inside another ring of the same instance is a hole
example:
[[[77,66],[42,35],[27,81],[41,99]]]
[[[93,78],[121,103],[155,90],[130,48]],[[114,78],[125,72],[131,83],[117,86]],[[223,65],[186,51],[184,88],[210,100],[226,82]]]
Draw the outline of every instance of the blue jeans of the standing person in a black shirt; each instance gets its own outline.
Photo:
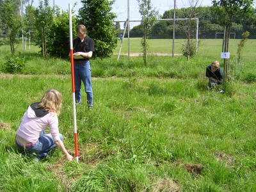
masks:
[[[76,102],[81,103],[81,82],[83,81],[85,92],[87,95],[88,107],[93,107],[93,93],[91,82],[91,67],[90,61],[84,61],[84,63],[74,64],[74,79],[75,79],[75,97]]]

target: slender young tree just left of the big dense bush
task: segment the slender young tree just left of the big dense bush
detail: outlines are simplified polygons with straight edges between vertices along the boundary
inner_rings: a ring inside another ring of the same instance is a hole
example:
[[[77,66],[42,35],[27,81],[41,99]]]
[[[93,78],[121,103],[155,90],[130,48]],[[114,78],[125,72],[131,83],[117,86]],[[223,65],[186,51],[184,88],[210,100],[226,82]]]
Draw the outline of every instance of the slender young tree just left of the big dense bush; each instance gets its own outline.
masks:
[[[39,6],[36,8],[36,36],[40,41],[36,44],[42,49],[42,55],[45,57],[47,55],[47,36],[51,31],[51,24],[53,20],[54,9],[49,6],[49,0],[39,1]]]

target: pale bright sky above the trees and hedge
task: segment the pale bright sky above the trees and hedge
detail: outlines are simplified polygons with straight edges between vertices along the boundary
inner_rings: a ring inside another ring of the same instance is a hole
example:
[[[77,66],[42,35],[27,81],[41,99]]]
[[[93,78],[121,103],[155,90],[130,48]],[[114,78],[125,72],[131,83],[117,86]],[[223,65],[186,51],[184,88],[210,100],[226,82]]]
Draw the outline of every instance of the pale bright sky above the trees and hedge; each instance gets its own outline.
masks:
[[[192,0],[177,0],[176,8],[189,7],[189,1]],[[38,0],[34,0],[33,6],[38,6]],[[50,5],[53,3],[58,5],[61,10],[68,10],[68,4],[70,3],[73,7],[77,2],[77,6],[74,10],[79,10],[81,7],[81,1],[77,0],[49,0]],[[141,15],[139,13],[139,6],[137,0],[116,0],[113,4],[112,12],[116,13],[117,18],[115,20],[126,20],[128,17],[127,7],[129,2],[129,19],[130,20],[141,20]],[[201,3],[202,2],[202,3]],[[211,6],[211,0],[198,0],[198,4],[201,3],[201,6]],[[151,0],[153,8],[155,8],[160,15],[166,10],[171,10],[174,8],[174,0]]]

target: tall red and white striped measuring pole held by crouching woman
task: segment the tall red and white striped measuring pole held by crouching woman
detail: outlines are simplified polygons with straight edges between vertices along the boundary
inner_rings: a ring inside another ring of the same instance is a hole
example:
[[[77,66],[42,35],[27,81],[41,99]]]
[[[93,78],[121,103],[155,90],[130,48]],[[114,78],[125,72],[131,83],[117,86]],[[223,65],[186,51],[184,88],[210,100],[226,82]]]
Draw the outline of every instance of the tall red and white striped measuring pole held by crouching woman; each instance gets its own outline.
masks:
[[[68,4],[68,11],[69,11],[69,41],[70,41],[71,77],[72,77],[72,99],[73,99],[73,113],[74,113],[74,139],[75,139],[76,161],[78,162],[78,145],[77,145],[77,129],[76,129],[76,97],[75,97],[73,35],[72,35],[72,8],[70,3]]]

